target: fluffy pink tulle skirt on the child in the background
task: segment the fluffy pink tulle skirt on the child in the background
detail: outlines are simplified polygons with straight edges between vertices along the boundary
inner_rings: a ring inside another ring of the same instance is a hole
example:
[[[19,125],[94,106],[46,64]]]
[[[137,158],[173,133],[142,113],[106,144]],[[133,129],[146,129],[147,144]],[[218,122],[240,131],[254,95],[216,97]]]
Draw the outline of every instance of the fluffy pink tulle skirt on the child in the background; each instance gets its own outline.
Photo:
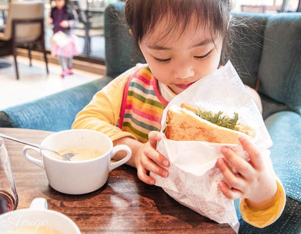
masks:
[[[51,40],[51,55],[70,58],[81,53],[79,39],[76,35],[67,35],[61,31],[55,33]]]

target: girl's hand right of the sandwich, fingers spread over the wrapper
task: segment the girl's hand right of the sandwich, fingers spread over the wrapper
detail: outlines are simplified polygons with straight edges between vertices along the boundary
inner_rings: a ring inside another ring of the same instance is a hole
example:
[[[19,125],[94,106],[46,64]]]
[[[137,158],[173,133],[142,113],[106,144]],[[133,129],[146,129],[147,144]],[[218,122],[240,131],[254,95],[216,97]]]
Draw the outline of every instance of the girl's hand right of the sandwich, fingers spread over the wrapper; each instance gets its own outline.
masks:
[[[234,173],[224,159],[218,159],[216,165],[224,176],[224,181],[219,183],[219,188],[226,198],[232,200],[247,198],[250,204],[265,209],[267,208],[265,205],[277,193],[272,163],[269,162],[268,157],[259,152],[249,138],[240,135],[238,140],[249,153],[250,161],[247,162],[230,148],[223,147],[222,154],[240,174]]]

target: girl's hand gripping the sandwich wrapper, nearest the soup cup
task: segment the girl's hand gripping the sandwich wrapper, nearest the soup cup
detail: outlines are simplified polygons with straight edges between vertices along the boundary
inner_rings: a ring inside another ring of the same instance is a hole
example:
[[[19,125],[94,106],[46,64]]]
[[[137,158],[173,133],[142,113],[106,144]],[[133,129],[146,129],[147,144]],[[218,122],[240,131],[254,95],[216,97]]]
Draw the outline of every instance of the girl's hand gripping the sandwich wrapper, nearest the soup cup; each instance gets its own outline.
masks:
[[[135,150],[137,153],[134,163],[137,168],[138,178],[147,184],[153,185],[155,180],[147,176],[146,173],[151,171],[159,176],[166,177],[168,171],[161,166],[168,166],[169,161],[156,150],[157,141],[161,139],[161,133],[151,131],[148,134],[148,139],[149,141],[147,143],[139,145]]]

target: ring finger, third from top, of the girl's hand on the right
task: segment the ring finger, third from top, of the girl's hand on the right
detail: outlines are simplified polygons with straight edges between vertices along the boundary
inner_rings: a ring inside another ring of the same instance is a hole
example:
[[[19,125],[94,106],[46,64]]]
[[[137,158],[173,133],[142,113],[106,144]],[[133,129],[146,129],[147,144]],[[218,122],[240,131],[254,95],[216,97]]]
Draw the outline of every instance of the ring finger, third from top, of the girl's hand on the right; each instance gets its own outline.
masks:
[[[245,190],[246,182],[241,178],[240,175],[235,174],[223,159],[218,159],[216,162],[216,166],[218,166],[218,168],[222,172],[224,176],[224,181],[231,188],[239,189],[241,191]]]

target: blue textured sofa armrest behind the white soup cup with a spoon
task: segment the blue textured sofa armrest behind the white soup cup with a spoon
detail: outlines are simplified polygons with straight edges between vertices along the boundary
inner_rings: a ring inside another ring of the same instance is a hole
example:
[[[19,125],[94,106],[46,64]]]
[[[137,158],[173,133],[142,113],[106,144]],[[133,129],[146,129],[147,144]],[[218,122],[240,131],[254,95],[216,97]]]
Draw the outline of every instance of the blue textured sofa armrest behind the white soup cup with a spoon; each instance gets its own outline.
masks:
[[[11,125],[14,128],[46,131],[70,129],[76,114],[111,80],[111,77],[104,77],[28,103],[6,108],[0,115],[0,122],[6,121],[6,126],[3,127]]]

